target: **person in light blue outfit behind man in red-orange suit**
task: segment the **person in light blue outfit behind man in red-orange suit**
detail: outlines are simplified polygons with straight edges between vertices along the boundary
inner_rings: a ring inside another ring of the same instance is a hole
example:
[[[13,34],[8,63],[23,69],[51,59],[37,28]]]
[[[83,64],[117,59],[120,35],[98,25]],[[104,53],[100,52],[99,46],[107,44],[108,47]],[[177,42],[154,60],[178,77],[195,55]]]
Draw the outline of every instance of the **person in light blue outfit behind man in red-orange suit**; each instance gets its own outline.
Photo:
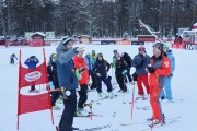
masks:
[[[171,74],[165,79],[165,85],[161,92],[160,98],[161,99],[166,98],[167,100],[172,102],[173,97],[172,97],[172,90],[171,90],[171,80],[173,78],[173,73],[175,70],[175,58],[173,56],[173,51],[166,45],[164,45],[163,50],[167,55],[167,58],[171,59]]]

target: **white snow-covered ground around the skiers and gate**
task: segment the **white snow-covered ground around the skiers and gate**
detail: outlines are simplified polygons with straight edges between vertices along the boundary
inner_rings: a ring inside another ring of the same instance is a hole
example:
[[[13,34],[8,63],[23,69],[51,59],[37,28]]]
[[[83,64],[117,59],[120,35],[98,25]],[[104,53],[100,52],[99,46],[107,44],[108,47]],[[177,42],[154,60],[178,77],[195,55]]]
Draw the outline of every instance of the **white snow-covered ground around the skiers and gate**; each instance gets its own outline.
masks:
[[[77,45],[76,45],[77,46]],[[92,49],[96,52],[102,52],[107,61],[112,61],[113,50],[117,49],[119,52],[128,52],[132,58],[138,52],[138,46],[115,46],[115,45],[80,45],[85,47],[85,53],[91,52]],[[147,53],[152,56],[152,45],[146,45]],[[22,47],[22,62],[32,55],[43,61],[42,48],[39,47]],[[46,56],[55,52],[56,46],[45,47]],[[19,56],[19,47],[2,48],[0,47],[0,131],[16,131],[16,107],[18,107],[18,66],[10,66],[10,55]],[[181,117],[181,121],[155,128],[153,131],[196,131],[196,111],[197,111],[197,51],[176,50],[173,49],[176,58],[176,70],[172,81],[173,97],[178,103],[163,104],[163,112],[166,118]],[[134,72],[134,69],[131,73]],[[109,71],[109,75],[112,72]],[[111,124],[109,128],[102,131],[141,131],[148,128],[148,123],[120,126],[123,123],[144,122],[147,118],[152,115],[151,110],[140,110],[137,107],[149,106],[149,100],[139,100],[135,103],[134,119],[131,120],[131,92],[132,85],[127,85],[129,93],[121,94],[117,98],[106,99],[100,104],[93,103],[93,114],[102,117],[90,118],[74,118],[74,127],[80,129],[96,128]],[[44,90],[44,88],[42,88]],[[119,88],[116,86],[114,92]],[[103,87],[106,92],[106,87]],[[137,86],[135,90],[137,96]],[[89,102],[97,99],[96,92],[89,93]],[[182,100],[182,102],[179,102]],[[88,102],[88,103],[89,103]],[[126,104],[124,104],[125,102]],[[59,105],[60,107],[63,106]],[[86,108],[89,110],[89,108]],[[54,111],[55,124],[58,124],[62,110]],[[21,115],[20,130],[21,131],[55,131],[55,126],[51,124],[49,110]]]

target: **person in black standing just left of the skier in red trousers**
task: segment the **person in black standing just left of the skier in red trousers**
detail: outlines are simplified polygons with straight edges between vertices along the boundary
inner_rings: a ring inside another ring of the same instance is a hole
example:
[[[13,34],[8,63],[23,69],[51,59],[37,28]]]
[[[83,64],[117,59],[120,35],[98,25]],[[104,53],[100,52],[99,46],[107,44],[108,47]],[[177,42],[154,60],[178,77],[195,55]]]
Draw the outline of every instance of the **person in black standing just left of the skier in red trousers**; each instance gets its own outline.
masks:
[[[127,53],[127,52],[124,52],[121,55],[123,59],[127,62],[127,78],[128,78],[128,81],[129,82],[132,82],[132,78],[130,75],[130,68],[132,66],[132,59],[130,58],[130,56]],[[126,80],[126,83],[127,83],[127,78],[125,79]]]

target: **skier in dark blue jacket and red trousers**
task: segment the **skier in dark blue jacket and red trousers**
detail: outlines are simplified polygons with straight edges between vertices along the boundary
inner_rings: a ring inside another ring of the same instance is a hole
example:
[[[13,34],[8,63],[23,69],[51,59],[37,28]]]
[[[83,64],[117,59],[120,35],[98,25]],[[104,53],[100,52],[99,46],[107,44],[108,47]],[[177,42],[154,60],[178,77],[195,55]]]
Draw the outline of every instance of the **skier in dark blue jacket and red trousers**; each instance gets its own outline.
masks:
[[[139,53],[135,56],[132,66],[136,68],[137,74],[137,85],[138,85],[138,97],[136,100],[142,98],[143,100],[147,99],[144,96],[142,83],[146,86],[147,94],[150,94],[150,87],[148,82],[148,73],[146,72],[146,67],[150,64],[150,57],[146,53],[144,47],[138,48]]]

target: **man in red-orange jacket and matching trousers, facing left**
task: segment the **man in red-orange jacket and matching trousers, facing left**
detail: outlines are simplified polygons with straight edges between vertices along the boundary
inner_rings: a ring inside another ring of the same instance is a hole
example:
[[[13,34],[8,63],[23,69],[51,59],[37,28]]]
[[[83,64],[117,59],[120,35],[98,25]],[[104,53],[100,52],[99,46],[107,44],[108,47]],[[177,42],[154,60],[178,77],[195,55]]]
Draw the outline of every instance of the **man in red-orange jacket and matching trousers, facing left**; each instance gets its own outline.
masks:
[[[151,67],[147,67],[146,71],[150,73],[150,104],[153,111],[150,120],[152,120],[152,126],[154,126],[164,122],[164,115],[162,114],[159,98],[162,87],[164,87],[165,79],[171,74],[171,60],[163,51],[163,44],[157,43],[153,46]]]

